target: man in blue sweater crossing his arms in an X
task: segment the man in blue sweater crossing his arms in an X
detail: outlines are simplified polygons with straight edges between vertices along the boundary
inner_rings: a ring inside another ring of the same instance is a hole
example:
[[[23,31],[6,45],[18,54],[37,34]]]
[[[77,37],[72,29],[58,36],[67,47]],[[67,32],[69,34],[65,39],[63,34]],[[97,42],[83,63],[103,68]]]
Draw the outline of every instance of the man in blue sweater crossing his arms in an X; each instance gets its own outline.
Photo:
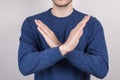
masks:
[[[23,75],[35,80],[90,80],[108,73],[108,54],[100,22],[72,7],[72,0],[52,0],[53,8],[26,18],[18,52]]]

